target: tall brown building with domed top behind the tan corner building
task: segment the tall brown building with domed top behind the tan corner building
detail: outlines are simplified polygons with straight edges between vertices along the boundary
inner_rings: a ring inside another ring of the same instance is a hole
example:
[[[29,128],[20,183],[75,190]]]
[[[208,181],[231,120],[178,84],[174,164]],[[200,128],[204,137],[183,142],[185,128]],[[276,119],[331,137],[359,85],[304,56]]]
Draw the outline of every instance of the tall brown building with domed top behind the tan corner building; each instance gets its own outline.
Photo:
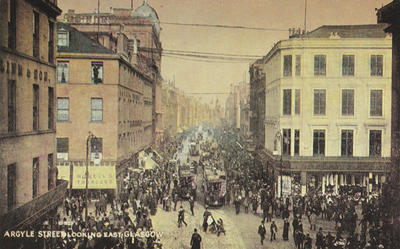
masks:
[[[75,13],[69,10],[64,15],[64,21],[108,49],[115,50],[122,46],[127,50],[128,61],[151,79],[149,84],[143,86],[142,126],[147,147],[159,141],[162,135],[159,99],[162,46],[157,12],[144,1],[136,9],[114,8],[110,13]],[[118,43],[121,35],[127,37],[123,44]]]

